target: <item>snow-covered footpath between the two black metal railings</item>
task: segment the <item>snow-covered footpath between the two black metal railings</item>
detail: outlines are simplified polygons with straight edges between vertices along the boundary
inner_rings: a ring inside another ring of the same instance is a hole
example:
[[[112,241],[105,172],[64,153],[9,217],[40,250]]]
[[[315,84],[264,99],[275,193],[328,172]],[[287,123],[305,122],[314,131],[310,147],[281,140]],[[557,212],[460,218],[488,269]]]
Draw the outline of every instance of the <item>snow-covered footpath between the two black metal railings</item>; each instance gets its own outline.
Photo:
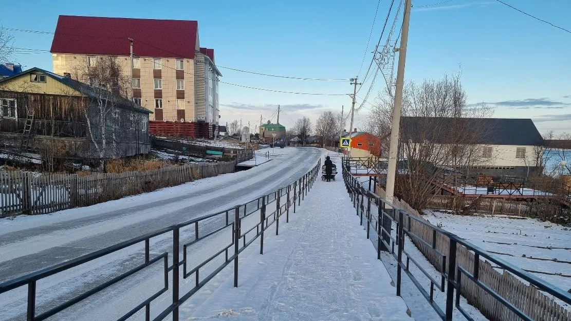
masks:
[[[267,231],[263,255],[259,241],[243,252],[238,288],[227,267],[181,320],[412,320],[354,212],[340,174],[318,179],[280,235]]]

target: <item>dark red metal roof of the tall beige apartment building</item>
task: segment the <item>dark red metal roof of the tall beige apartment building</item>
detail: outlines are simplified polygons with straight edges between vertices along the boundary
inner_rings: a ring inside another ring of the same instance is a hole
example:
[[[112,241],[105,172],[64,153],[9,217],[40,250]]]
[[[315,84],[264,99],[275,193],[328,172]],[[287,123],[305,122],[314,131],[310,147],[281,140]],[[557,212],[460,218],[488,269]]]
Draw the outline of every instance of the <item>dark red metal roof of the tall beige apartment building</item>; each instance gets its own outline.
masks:
[[[194,59],[198,22],[60,15],[50,52]],[[212,50],[214,56],[214,50]]]

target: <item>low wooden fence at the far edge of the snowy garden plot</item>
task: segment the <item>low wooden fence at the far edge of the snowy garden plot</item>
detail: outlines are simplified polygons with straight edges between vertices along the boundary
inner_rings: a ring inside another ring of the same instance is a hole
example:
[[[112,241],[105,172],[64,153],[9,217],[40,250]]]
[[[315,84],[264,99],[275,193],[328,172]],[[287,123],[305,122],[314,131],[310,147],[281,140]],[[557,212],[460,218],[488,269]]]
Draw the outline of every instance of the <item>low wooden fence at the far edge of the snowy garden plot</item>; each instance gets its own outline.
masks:
[[[454,210],[472,204],[476,197],[455,197],[453,195],[435,195],[429,198],[428,208]],[[526,201],[511,201],[505,198],[482,197],[471,209],[473,213],[508,214],[522,217],[537,217],[536,209],[532,203]],[[560,206],[545,206],[543,210],[546,218],[569,217],[569,210],[561,209]]]

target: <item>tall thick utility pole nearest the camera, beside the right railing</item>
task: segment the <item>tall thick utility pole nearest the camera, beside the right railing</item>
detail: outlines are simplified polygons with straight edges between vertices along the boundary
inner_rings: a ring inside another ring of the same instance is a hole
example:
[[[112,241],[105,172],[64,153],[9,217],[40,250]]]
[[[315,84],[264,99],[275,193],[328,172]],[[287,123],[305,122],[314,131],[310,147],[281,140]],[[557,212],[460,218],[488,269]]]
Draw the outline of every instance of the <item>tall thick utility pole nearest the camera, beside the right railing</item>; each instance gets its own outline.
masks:
[[[392,204],[393,194],[395,193],[396,164],[397,157],[399,156],[400,116],[403,107],[404,65],[407,59],[408,25],[410,19],[411,0],[405,0],[403,32],[400,38],[400,48],[395,48],[395,51],[399,51],[399,67],[396,74],[395,110],[393,111],[391,145],[389,147],[389,164],[387,172],[387,202],[389,204]]]

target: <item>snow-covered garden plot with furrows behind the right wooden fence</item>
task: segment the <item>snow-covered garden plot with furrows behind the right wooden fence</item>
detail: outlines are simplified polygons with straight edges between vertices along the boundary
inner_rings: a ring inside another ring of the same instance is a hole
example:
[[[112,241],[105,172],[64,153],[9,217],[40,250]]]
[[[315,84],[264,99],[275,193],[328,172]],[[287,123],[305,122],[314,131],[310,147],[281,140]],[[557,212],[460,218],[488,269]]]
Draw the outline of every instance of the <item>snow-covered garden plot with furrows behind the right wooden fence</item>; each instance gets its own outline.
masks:
[[[427,213],[426,218],[432,224],[441,224],[443,229],[521,269],[536,271],[534,275],[552,285],[565,291],[571,289],[569,227],[514,216],[456,216],[434,211]]]

